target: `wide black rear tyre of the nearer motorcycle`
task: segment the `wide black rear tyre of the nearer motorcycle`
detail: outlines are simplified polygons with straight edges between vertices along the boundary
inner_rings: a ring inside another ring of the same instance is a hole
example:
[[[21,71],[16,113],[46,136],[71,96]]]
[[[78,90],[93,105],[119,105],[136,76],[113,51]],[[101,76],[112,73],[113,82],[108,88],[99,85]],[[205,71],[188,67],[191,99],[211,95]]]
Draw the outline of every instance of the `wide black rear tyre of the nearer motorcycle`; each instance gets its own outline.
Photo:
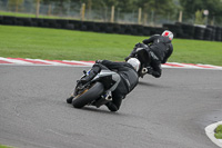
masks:
[[[103,91],[103,85],[101,82],[97,82],[90,89],[84,90],[81,95],[73,98],[72,105],[74,108],[82,108],[94,99],[98,99]]]

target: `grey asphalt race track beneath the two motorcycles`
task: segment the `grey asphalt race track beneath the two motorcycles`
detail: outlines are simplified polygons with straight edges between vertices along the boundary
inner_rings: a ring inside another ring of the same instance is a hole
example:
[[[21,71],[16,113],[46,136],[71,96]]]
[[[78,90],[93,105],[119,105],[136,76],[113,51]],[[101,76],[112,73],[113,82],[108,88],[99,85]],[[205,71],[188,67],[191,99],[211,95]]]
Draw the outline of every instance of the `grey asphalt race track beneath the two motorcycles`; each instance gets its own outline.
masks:
[[[16,148],[218,148],[222,71],[145,76],[118,112],[65,102],[83,67],[0,66],[0,144]]]

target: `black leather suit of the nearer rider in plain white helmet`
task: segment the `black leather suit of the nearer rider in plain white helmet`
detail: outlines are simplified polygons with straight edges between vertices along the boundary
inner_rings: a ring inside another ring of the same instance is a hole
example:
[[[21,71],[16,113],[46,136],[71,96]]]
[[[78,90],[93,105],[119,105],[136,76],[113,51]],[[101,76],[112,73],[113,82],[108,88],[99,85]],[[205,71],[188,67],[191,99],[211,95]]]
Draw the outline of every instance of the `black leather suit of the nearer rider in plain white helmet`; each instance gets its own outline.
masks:
[[[111,111],[117,111],[121,106],[122,99],[124,99],[125,96],[130,93],[138,85],[138,72],[128,62],[99,60],[95,65],[93,65],[90,73],[98,73],[103,66],[112,71],[115,71],[121,77],[120,83],[118,85],[117,89],[112,91],[112,101],[107,103],[107,107]]]

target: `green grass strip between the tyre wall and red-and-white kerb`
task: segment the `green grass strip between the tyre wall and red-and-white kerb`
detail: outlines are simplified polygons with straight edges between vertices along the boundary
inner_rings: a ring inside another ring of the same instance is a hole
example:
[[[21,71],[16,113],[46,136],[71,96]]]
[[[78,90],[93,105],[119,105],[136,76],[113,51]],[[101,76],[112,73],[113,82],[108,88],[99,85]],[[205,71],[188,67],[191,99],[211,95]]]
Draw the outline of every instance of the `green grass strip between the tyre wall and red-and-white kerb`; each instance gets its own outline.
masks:
[[[0,57],[122,61],[148,37],[0,26]],[[222,42],[173,40],[169,61],[222,66]]]

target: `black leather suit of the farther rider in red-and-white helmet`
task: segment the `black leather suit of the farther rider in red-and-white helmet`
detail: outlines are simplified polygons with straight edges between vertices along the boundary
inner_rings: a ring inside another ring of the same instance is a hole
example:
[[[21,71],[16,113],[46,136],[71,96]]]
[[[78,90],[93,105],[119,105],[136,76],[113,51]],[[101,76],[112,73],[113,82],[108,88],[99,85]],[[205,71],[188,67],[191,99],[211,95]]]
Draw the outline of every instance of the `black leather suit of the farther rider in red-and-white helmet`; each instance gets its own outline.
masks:
[[[163,37],[160,34],[151,36],[149,39],[142,41],[144,45],[149,46],[149,52],[151,56],[151,63],[152,70],[150,73],[155,78],[161,77],[162,69],[161,63],[165,63],[168,58],[173,52],[173,46],[171,40],[168,37]]]

